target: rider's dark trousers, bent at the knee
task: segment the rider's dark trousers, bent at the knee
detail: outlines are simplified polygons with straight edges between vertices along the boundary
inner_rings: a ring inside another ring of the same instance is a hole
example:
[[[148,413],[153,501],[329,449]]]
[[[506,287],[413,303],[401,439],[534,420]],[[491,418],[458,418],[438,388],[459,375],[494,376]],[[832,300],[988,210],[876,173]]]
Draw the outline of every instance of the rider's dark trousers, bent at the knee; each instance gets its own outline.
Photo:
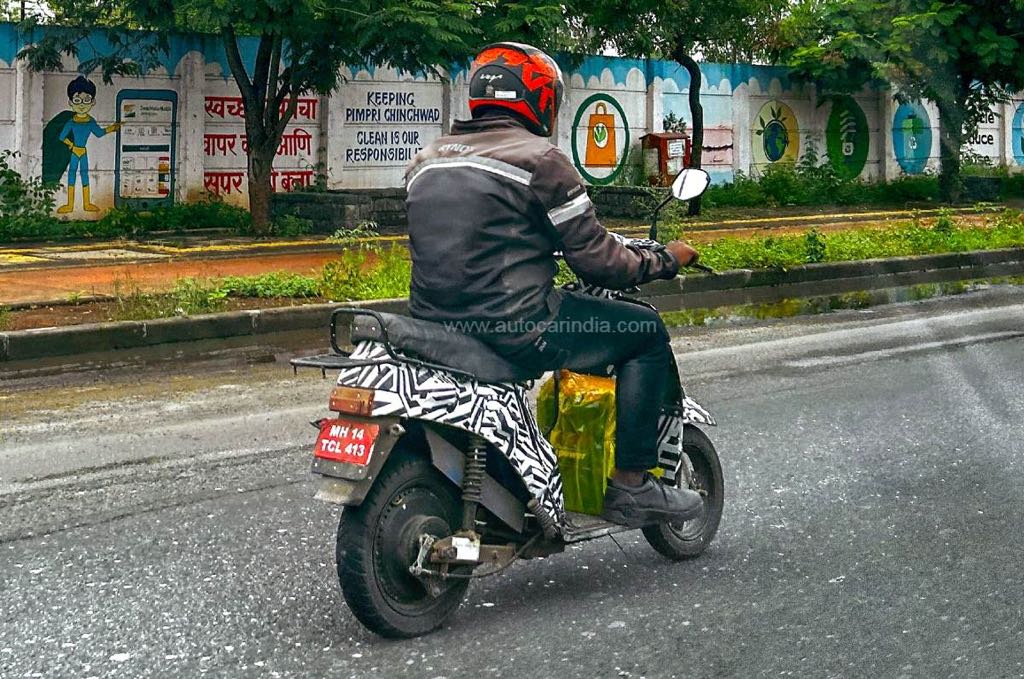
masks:
[[[557,316],[532,343],[495,349],[520,365],[607,375],[615,371],[615,467],[657,466],[657,420],[666,392],[678,389],[669,332],[657,311],[632,302],[563,293]],[[511,346],[510,346],[511,344]]]

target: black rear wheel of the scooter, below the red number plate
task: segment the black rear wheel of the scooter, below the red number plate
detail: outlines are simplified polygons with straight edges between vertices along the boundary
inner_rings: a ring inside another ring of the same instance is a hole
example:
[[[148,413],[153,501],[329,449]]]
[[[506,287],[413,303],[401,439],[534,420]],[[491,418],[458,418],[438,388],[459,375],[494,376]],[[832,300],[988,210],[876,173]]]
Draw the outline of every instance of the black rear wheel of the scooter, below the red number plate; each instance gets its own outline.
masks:
[[[338,582],[356,619],[384,637],[440,627],[462,603],[469,581],[443,581],[433,596],[409,566],[422,534],[443,538],[461,522],[458,489],[425,457],[395,451],[362,504],[346,507],[338,525]]]

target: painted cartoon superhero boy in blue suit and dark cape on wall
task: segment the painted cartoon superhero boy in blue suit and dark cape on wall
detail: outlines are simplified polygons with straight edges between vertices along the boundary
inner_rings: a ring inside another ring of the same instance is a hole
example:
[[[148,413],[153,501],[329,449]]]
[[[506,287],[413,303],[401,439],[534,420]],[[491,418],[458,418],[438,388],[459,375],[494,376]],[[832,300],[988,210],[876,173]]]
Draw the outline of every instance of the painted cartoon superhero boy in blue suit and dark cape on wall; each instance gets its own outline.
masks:
[[[89,195],[89,139],[116,132],[121,124],[100,127],[89,115],[96,103],[96,85],[85,76],[79,76],[69,83],[68,103],[71,111],[56,116],[43,132],[43,179],[59,180],[65,169],[68,170],[68,202],[57,208],[57,214],[69,214],[75,209],[79,179],[82,185],[82,209],[86,212],[98,212],[99,208],[92,203]],[[60,148],[60,144],[67,150]]]

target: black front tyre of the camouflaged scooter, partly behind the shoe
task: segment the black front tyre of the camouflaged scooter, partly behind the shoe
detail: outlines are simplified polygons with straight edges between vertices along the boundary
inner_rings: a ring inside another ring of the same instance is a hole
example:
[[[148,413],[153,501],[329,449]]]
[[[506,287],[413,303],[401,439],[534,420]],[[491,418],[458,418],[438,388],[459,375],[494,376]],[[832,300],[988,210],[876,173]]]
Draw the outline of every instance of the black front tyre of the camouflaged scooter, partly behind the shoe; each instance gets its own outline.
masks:
[[[674,561],[692,559],[703,553],[718,533],[725,506],[722,464],[711,439],[696,427],[687,425],[683,430],[683,453],[693,469],[691,487],[703,496],[703,513],[689,521],[658,523],[643,528],[643,536],[650,546]],[[683,479],[684,475],[680,473],[678,482],[684,482]]]

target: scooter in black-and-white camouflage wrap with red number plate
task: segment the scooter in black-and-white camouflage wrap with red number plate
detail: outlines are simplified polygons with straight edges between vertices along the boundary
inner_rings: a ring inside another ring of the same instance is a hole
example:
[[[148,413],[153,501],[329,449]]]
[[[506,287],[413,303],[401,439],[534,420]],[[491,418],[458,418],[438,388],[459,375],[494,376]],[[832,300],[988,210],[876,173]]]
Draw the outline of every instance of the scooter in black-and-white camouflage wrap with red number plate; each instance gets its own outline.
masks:
[[[680,173],[654,211],[651,238],[631,243],[656,245],[659,211],[709,183],[703,171]],[[582,282],[569,287],[644,303]],[[332,313],[331,347],[292,364],[325,376],[339,371],[329,401],[335,416],[312,423],[319,430],[312,472],[321,477],[316,499],[344,507],[338,581],[373,632],[426,634],[461,604],[471,580],[631,529],[566,511],[558,458],[528,398],[541,375],[440,324],[361,308]],[[683,560],[714,539],[724,484],[718,453],[700,429],[715,420],[686,395],[675,362],[667,369],[673,384],[658,425],[659,473],[698,492],[703,508],[696,518],[641,529],[657,552]]]

